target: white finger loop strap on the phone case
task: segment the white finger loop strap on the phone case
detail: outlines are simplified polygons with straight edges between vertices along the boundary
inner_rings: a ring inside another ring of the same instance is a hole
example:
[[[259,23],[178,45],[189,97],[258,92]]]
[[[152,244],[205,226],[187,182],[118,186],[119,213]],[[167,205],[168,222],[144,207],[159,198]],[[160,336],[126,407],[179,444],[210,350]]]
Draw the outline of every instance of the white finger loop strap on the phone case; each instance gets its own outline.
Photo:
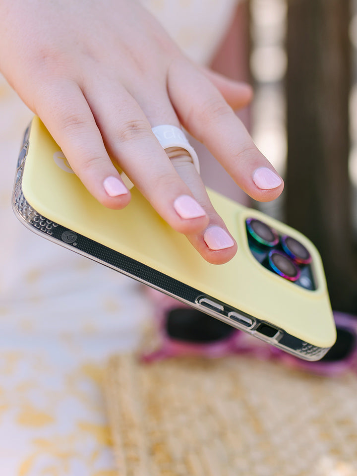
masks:
[[[186,150],[191,156],[192,163],[197,170],[198,174],[200,173],[200,167],[198,162],[197,154],[191,144],[188,142],[183,131],[176,127],[175,125],[157,125],[152,128],[155,137],[160,142],[163,149],[169,149],[170,147],[179,147]],[[128,177],[122,172],[120,177],[127,188],[132,188],[134,185],[128,179]]]

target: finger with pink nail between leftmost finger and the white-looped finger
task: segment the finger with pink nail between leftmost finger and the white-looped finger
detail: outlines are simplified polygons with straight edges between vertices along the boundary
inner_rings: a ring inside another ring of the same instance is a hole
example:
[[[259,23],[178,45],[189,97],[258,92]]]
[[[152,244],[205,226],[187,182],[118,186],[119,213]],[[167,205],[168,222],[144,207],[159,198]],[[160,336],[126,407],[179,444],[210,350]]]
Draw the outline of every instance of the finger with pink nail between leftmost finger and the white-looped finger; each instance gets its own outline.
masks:
[[[118,85],[105,83],[99,88],[93,84],[85,90],[85,96],[110,155],[162,218],[183,234],[204,229],[208,216],[179,178],[151,129],[161,117],[169,124],[179,124],[168,98],[161,94],[155,100],[155,89],[150,91],[148,103],[155,107],[146,114],[145,104],[139,106]],[[109,109],[105,107],[108,104]]]

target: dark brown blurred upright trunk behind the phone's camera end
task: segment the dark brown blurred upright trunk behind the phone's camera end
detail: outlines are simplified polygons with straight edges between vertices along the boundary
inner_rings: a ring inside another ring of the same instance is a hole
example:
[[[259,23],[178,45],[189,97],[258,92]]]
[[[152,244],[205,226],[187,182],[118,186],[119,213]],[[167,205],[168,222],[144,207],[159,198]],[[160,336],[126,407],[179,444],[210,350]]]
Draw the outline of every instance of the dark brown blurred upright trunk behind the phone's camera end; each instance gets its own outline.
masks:
[[[334,309],[357,313],[348,0],[288,0],[286,218],[319,249]]]

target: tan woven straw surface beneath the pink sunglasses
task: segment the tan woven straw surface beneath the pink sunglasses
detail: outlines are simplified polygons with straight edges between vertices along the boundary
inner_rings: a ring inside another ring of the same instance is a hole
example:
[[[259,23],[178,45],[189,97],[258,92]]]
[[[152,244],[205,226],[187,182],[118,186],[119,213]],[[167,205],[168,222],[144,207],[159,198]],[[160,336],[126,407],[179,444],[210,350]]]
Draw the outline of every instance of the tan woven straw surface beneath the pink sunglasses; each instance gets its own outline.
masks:
[[[113,357],[118,476],[356,476],[357,375],[248,357]]]

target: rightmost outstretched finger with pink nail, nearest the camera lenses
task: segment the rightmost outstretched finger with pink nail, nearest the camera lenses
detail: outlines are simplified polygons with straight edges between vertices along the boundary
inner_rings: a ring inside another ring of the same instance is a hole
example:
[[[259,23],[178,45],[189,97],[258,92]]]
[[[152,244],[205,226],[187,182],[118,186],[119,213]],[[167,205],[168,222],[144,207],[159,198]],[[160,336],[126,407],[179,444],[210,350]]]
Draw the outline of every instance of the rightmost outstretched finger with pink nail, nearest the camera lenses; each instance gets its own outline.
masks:
[[[247,194],[259,201],[280,195],[283,180],[205,76],[186,60],[178,60],[169,71],[168,91],[184,127],[206,145]]]

